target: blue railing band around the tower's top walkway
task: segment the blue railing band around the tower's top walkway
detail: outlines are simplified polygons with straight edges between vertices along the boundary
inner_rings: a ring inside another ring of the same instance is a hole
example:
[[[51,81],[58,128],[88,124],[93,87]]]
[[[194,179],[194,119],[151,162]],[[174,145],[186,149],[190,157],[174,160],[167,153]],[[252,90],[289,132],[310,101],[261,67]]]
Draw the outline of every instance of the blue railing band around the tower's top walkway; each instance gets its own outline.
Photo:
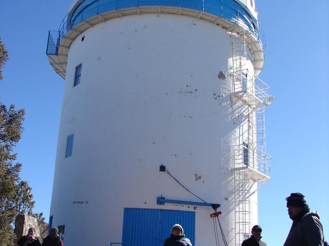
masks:
[[[57,55],[61,39],[83,20],[97,14],[137,6],[182,7],[214,14],[251,33],[260,43],[262,50],[265,50],[265,36],[258,21],[234,0],[84,0],[73,12],[70,11],[64,17],[58,31],[49,31],[46,54]]]

